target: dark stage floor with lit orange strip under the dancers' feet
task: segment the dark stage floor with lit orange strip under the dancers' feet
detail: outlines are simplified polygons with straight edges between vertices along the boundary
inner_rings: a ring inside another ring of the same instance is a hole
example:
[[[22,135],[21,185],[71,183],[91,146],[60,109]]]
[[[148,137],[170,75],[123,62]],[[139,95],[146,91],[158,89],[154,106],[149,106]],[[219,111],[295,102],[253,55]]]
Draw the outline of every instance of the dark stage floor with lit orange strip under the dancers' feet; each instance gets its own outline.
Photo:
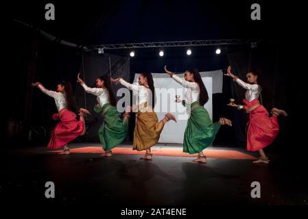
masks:
[[[207,164],[192,162],[181,146],[153,147],[152,162],[122,144],[101,157],[99,144],[70,144],[70,155],[44,146],[5,151],[1,157],[1,199],[14,205],[307,205],[307,179],[270,155],[269,165],[252,164],[256,153],[210,147]],[[196,155],[194,155],[196,156]],[[45,183],[56,198],[45,198]],[[251,183],[261,185],[252,198]],[[2,203],[2,200],[1,200]]]

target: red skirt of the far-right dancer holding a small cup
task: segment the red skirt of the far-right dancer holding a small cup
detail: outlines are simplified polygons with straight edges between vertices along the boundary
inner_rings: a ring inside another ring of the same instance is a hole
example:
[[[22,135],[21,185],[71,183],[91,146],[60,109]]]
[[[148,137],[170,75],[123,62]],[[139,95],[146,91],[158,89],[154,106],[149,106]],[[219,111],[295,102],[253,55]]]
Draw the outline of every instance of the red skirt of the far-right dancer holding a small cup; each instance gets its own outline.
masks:
[[[249,102],[243,100],[246,110],[259,103],[258,99]],[[247,130],[247,151],[258,151],[272,144],[279,131],[279,123],[276,116],[269,117],[268,111],[259,105],[249,114]]]

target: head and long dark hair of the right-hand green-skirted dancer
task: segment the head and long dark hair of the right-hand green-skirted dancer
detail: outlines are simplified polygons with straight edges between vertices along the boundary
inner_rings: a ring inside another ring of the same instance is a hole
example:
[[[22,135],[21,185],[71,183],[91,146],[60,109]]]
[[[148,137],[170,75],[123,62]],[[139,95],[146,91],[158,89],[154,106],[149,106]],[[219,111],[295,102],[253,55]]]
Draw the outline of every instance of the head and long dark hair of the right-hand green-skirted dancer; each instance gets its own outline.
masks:
[[[204,105],[207,101],[209,101],[209,94],[207,93],[207,90],[204,86],[204,83],[202,81],[202,78],[200,76],[198,69],[186,70],[184,73],[184,78],[187,81],[196,82],[199,84],[199,88],[200,88],[199,103],[200,105]]]

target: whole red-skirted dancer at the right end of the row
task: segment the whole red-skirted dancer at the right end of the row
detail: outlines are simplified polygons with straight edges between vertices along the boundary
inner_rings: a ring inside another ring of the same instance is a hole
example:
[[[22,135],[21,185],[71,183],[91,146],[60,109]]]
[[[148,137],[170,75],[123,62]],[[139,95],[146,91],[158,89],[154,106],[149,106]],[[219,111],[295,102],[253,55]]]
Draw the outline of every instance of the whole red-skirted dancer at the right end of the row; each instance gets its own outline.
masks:
[[[270,160],[266,157],[263,148],[272,144],[279,131],[278,116],[287,116],[287,113],[277,108],[272,108],[272,116],[269,117],[268,111],[259,102],[261,86],[258,85],[257,73],[247,73],[247,81],[241,81],[237,76],[231,73],[231,67],[228,66],[227,73],[224,74],[233,78],[239,86],[246,89],[244,105],[229,103],[231,107],[237,107],[239,110],[246,110],[249,114],[248,129],[247,129],[247,151],[259,151],[261,157],[254,163],[268,164]]]

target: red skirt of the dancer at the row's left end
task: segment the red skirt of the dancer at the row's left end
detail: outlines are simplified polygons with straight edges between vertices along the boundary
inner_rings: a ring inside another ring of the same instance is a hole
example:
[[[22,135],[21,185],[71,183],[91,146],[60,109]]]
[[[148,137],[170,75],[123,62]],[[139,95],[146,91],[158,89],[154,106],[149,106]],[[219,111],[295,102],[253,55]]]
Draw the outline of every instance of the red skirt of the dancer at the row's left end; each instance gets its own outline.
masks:
[[[49,149],[58,149],[61,146],[71,142],[84,131],[84,123],[76,120],[76,114],[73,112],[62,109],[59,114],[54,114],[52,118],[56,120],[60,115],[60,122],[51,133],[51,139],[48,144]]]

